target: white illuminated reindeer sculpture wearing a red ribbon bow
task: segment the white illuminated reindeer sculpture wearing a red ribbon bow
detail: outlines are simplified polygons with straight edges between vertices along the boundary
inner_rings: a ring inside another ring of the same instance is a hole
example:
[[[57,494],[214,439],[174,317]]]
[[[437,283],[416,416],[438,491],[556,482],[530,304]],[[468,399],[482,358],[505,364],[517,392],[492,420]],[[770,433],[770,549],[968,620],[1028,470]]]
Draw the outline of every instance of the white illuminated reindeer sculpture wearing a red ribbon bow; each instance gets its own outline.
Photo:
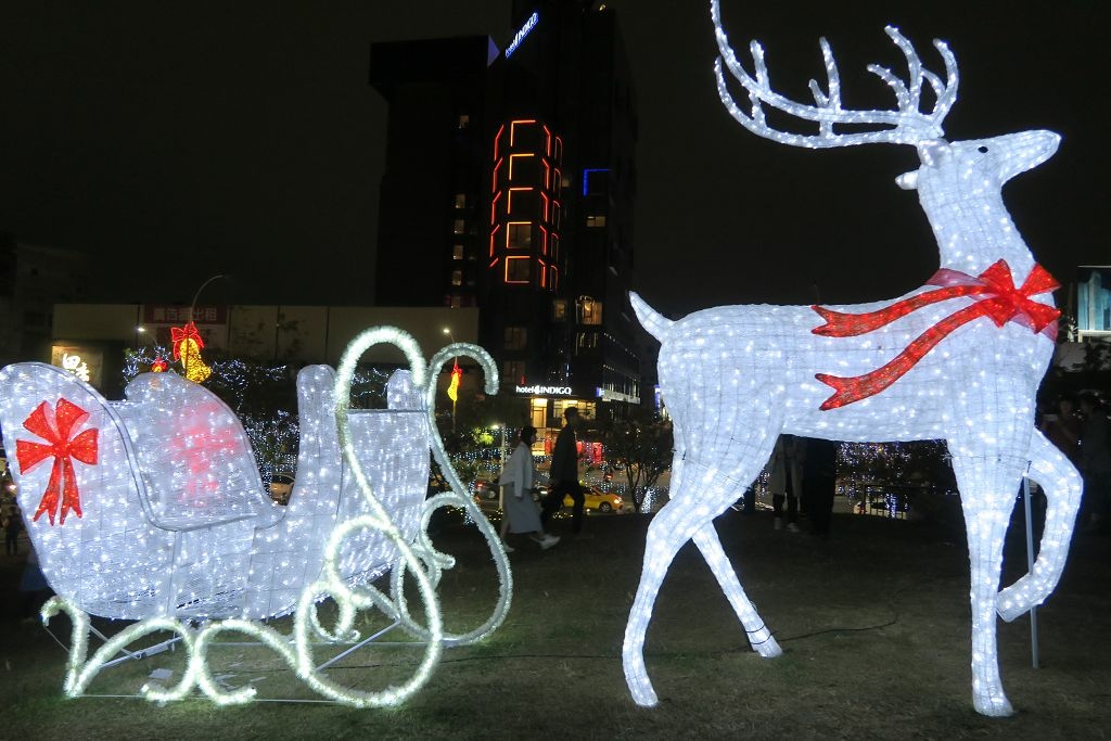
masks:
[[[945,80],[925,69],[894,28],[907,82],[870,66],[893,91],[898,109],[841,108],[840,80],[821,41],[828,89],[811,81],[813,104],[771,89],[763,50],[751,44],[754,76],[737,61],[711,3],[721,58],[718,90],[750,131],[811,148],[910,144],[921,167],[898,179],[917,189],[941,252],[940,270],[921,289],[879,303],[843,307],[737,306],[679,321],[633,294],[644,328],[661,343],[659,374],[674,420],[671,501],[648,531],[643,573],[625,629],[623,664],[633,699],[657,702],[643,647],[660,584],[675,552],[693,539],[761,655],[781,650],[745,597],[718,541],[713,519],[760,472],[787,432],[850,441],[944,439],[968,529],[972,600],[972,695],[985,715],[1007,715],[995,653],[995,614],[1013,620],[1057,585],[1080,501],[1072,464],[1034,429],[1034,394],[1053,351],[1059,311],[1053,279],[1022,241],[1000,190],[1045,161],[1059,137],[1049,131],[947,142],[941,122],[957,97],[957,62],[934,46]],[[731,98],[722,62],[747,89],[751,107]],[[919,110],[923,82],[932,110]],[[817,133],[785,133],[764,119],[768,106],[817,123]],[[858,124],[838,132],[839,124]],[[859,124],[869,124],[861,131]],[[999,591],[1003,537],[1022,477],[1037,481],[1049,509],[1031,573]]]

